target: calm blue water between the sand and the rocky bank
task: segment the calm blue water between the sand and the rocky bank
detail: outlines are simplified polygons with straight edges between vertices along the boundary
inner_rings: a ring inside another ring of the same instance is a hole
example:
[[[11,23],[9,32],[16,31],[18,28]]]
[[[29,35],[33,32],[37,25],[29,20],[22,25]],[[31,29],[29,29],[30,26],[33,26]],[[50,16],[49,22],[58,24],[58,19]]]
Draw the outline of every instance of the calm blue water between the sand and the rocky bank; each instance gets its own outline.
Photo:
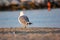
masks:
[[[21,27],[18,22],[20,11],[0,11],[0,28]],[[29,27],[56,27],[60,28],[60,9],[26,10],[25,15],[33,24]]]

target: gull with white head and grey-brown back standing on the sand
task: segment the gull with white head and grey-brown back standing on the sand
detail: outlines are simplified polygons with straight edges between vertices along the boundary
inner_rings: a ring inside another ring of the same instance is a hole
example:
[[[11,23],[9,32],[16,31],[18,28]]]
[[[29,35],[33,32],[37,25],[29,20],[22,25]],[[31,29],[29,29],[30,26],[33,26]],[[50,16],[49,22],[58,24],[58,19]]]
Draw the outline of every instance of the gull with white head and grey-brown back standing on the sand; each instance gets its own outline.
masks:
[[[23,25],[24,28],[26,28],[28,25],[31,25],[32,23],[29,21],[29,18],[24,15],[24,11],[20,11],[20,15],[18,17],[18,21],[20,24]]]

